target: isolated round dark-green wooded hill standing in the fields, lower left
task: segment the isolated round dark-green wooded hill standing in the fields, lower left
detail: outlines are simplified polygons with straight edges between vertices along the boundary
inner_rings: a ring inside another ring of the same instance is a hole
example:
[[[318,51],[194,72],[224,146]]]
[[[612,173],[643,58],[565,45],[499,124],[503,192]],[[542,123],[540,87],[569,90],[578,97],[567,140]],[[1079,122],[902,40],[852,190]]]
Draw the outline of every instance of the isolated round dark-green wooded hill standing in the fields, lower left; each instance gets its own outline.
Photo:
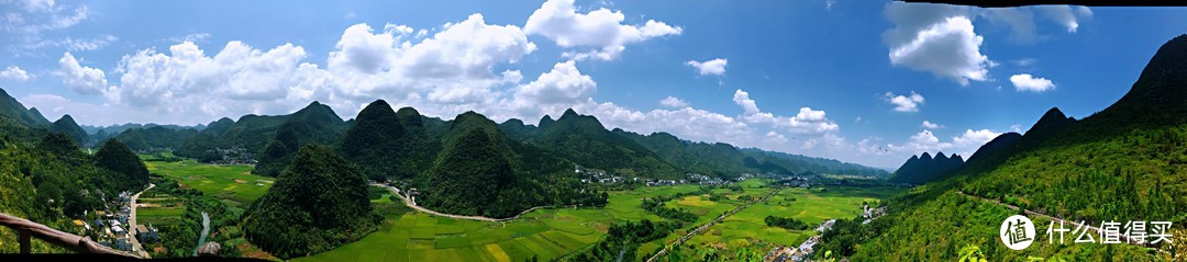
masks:
[[[380,216],[354,164],[324,146],[305,146],[243,215],[247,238],[281,258],[306,256],[374,231]]]

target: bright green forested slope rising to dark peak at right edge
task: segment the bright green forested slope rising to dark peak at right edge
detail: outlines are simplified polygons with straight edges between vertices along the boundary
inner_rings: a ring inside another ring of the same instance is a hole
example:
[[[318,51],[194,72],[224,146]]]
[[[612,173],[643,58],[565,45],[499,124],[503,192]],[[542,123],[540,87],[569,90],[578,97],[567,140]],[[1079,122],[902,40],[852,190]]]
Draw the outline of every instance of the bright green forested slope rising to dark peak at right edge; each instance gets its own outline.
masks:
[[[1030,256],[1153,260],[1148,256],[1151,253],[1129,244],[1060,245],[1040,238],[1037,248],[1004,249],[995,237],[998,228],[989,225],[1018,211],[990,200],[1087,224],[1187,222],[1185,101],[1187,36],[1180,36],[1157,51],[1130,91],[1109,108],[1080,121],[1058,109],[1048,110],[1016,142],[1004,142],[984,156],[978,152],[952,178],[891,198],[890,215],[881,219],[888,224],[853,225],[855,230],[846,230],[850,234],[826,234],[825,247],[839,249],[853,261],[940,261],[957,257],[958,250],[970,245],[1003,261]],[[1047,221],[1035,223],[1040,225],[1036,230],[1042,230]],[[1187,234],[1173,230],[1175,236]],[[850,244],[838,244],[846,242]]]

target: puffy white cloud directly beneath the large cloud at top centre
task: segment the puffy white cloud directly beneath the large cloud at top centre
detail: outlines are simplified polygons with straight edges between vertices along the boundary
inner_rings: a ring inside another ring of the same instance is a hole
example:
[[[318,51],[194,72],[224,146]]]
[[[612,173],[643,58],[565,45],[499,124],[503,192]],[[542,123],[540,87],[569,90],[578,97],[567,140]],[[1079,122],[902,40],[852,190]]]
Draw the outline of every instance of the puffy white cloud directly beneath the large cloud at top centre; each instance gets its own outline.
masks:
[[[520,85],[515,90],[516,98],[523,98],[532,104],[563,103],[585,101],[597,91],[594,78],[582,75],[576,62],[557,63],[552,71],[540,74],[532,83]]]

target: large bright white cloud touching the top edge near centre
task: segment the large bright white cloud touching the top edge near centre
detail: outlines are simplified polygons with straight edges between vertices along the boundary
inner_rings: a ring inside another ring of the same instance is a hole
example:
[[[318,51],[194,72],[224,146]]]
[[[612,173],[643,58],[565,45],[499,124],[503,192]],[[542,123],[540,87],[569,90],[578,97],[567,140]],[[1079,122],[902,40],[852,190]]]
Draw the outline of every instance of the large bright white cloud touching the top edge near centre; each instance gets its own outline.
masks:
[[[643,25],[624,25],[626,15],[618,11],[598,8],[577,13],[573,0],[548,0],[532,12],[523,31],[544,36],[563,47],[589,46],[588,52],[566,52],[573,59],[598,58],[612,60],[630,43],[680,34],[683,28],[662,21],[647,20]]]

